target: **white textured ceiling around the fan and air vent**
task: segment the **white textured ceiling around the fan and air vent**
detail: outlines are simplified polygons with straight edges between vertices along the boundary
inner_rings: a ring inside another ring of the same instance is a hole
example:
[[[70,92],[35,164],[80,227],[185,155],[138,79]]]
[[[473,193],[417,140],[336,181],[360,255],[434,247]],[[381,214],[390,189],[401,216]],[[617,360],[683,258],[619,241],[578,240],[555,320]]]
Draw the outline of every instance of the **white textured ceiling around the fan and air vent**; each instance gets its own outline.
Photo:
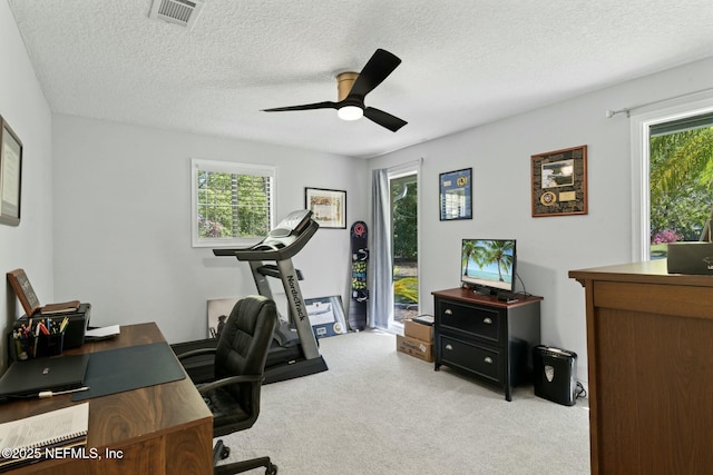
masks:
[[[152,0],[8,3],[53,112],[353,157],[713,56],[711,0],[206,0],[192,30]],[[377,48],[403,62],[365,102],[398,132],[260,111],[336,100]]]

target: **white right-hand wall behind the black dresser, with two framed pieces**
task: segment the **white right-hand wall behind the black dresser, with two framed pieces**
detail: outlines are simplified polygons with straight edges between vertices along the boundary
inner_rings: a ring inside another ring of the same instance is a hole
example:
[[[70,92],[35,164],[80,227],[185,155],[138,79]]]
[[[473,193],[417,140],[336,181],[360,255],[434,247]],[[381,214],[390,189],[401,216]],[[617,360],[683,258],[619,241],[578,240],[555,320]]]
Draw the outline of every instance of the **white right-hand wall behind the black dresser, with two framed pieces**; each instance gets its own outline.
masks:
[[[459,285],[461,238],[516,238],[518,274],[527,291],[545,297],[543,343],[575,350],[578,377],[587,380],[584,289],[567,273],[633,260],[632,209],[638,206],[632,199],[629,119],[607,119],[605,111],[712,83],[713,60],[700,61],[370,160],[375,169],[423,158],[421,311],[433,311],[431,291]],[[533,218],[530,156],[580,145],[588,147],[588,215]],[[473,217],[440,221],[438,175],[467,167]]]

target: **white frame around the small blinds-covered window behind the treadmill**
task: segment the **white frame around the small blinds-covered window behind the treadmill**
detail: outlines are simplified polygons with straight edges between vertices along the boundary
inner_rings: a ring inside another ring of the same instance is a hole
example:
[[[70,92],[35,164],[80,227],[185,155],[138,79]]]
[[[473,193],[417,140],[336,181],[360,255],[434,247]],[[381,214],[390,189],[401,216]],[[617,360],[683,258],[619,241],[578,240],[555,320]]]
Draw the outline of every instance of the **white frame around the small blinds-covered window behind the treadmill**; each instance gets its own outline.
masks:
[[[198,236],[198,170],[235,175],[253,175],[271,177],[270,187],[270,224],[272,229],[275,225],[276,185],[277,167],[272,165],[244,164],[237,161],[206,160],[201,158],[191,159],[191,240],[193,247],[246,247],[258,243],[261,238],[205,238]]]

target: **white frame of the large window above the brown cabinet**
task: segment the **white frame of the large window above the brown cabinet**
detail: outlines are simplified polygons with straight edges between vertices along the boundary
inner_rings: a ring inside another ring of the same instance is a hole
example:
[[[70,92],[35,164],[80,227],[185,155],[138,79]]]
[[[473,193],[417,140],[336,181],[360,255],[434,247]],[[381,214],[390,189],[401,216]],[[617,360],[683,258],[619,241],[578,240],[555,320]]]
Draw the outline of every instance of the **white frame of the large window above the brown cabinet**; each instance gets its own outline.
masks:
[[[713,96],[631,116],[632,257],[651,259],[651,127],[713,112]]]

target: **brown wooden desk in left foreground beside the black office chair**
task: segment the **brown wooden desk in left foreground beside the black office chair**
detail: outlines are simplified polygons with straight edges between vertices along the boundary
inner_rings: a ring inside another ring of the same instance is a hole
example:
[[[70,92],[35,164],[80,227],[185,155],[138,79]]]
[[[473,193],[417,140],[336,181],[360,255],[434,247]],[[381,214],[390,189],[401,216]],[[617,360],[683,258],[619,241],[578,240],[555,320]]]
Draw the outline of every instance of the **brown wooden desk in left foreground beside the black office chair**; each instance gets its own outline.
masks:
[[[114,339],[86,344],[65,354],[91,353],[165,342],[156,324],[121,327]],[[102,459],[52,459],[8,472],[47,475],[213,473],[213,416],[193,382],[185,379],[89,400],[87,452]],[[0,405],[0,423],[59,409],[71,395]],[[106,449],[121,458],[106,458]]]

